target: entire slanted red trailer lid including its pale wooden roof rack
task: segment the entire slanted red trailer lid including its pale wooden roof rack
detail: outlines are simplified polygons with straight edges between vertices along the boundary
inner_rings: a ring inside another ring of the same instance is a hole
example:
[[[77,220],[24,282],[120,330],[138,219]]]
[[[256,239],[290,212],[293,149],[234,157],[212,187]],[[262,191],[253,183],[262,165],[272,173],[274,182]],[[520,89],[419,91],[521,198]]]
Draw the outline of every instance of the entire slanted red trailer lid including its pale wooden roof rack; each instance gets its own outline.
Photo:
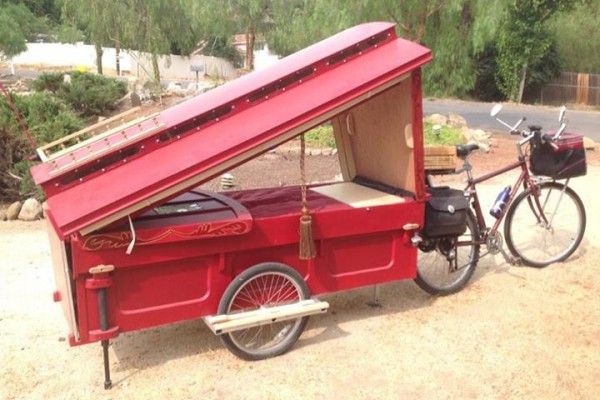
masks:
[[[86,235],[164,202],[399,83],[431,52],[394,28],[350,28],[160,113],[42,152],[32,175],[57,233]]]

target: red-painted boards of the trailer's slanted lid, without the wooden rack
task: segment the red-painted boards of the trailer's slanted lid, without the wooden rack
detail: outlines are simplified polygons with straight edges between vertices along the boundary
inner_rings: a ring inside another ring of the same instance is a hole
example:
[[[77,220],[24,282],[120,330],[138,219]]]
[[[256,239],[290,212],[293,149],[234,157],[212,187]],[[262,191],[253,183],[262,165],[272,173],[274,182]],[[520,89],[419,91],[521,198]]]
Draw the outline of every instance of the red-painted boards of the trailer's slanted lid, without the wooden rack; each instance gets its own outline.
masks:
[[[332,57],[337,60],[335,57],[343,49],[352,49],[357,43],[365,43],[382,33],[383,41],[332,64]],[[136,156],[107,166],[104,172],[84,175],[81,181],[75,179],[76,172],[52,177],[53,164],[47,162],[34,167],[32,173],[48,196],[49,213],[64,238],[203,171],[212,168],[218,171],[227,160],[243,158],[262,143],[310,123],[430,59],[428,49],[396,39],[391,24],[361,25],[296,53],[272,68],[248,74],[164,111],[158,119],[165,127],[139,143]],[[256,102],[248,101],[253,92],[307,67],[316,70],[301,83]],[[229,114],[196,129],[199,127],[194,118],[227,104],[234,106]],[[173,132],[181,138],[174,136],[160,142],[160,135]],[[64,162],[57,160],[58,164]]]

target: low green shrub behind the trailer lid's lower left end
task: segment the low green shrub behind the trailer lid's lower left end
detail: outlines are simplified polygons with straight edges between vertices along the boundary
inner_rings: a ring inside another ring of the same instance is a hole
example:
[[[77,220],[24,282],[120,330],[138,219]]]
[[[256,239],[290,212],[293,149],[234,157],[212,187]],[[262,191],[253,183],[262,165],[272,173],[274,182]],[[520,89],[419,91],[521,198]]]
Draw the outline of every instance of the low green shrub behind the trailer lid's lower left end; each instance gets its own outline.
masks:
[[[127,93],[124,82],[87,72],[72,71],[71,82],[64,82],[63,73],[45,73],[34,82],[37,91],[49,91],[82,115],[100,115],[116,106]]]

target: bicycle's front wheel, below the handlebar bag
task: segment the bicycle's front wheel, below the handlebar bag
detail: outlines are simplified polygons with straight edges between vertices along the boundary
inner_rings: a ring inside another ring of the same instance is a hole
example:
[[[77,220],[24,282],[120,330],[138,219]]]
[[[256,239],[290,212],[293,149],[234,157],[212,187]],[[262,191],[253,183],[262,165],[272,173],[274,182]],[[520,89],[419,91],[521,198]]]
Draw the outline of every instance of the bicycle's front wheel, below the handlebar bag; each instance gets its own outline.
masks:
[[[538,186],[538,193],[536,198],[530,188],[511,204],[504,236],[515,257],[541,268],[573,254],[583,238],[586,221],[583,203],[571,188],[548,182]],[[540,217],[539,207],[548,223]]]

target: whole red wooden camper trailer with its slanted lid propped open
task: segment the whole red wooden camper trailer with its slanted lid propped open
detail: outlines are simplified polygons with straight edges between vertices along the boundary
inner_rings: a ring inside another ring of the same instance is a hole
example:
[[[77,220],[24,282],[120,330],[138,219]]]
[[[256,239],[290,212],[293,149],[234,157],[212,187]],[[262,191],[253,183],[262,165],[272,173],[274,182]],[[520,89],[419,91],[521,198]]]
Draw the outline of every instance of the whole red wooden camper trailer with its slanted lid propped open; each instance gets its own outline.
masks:
[[[70,344],[102,341],[106,356],[121,332],[204,317],[234,353],[260,359],[327,309],[314,296],[414,278],[430,59],[393,24],[364,24],[156,115],[41,148],[32,174]],[[343,182],[305,188],[306,202],[302,187],[198,189],[328,121]],[[301,258],[306,204],[316,254]]]

